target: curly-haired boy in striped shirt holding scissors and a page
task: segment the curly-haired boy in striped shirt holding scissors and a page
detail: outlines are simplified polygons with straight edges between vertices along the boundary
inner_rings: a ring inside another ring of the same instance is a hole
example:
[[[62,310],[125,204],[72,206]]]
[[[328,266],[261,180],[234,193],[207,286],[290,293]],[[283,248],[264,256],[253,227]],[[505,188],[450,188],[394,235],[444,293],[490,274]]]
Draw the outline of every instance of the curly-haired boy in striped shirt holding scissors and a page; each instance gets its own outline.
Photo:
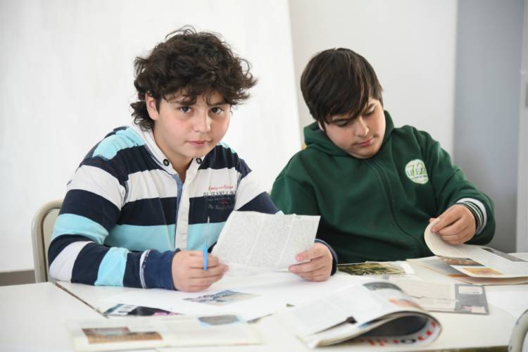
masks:
[[[256,80],[217,34],[192,27],[136,58],[135,69],[134,124],[96,144],[68,183],[49,271],[84,284],[201,291],[227,270],[210,254],[203,270],[201,249],[230,213],[279,211],[221,142]],[[297,259],[306,263],[291,271],[309,280],[327,279],[337,263],[321,241]]]

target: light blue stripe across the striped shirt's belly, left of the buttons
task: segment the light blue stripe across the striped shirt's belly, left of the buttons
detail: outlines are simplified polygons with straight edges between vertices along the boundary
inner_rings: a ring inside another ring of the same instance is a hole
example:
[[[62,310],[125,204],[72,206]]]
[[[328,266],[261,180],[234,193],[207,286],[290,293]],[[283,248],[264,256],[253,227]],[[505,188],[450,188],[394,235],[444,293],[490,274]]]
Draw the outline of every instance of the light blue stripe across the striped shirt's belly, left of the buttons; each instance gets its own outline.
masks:
[[[174,251],[175,225],[115,225],[110,230],[105,244],[113,247],[125,247],[131,251]]]

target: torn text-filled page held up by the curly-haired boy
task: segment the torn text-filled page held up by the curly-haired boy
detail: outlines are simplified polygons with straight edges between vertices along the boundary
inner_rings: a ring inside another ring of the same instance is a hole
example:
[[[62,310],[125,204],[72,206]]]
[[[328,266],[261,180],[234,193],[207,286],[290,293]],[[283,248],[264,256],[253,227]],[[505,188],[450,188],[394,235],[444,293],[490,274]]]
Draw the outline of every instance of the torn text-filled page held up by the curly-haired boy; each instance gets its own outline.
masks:
[[[230,266],[228,275],[287,270],[313,246],[319,216],[234,211],[220,232],[213,255]]]

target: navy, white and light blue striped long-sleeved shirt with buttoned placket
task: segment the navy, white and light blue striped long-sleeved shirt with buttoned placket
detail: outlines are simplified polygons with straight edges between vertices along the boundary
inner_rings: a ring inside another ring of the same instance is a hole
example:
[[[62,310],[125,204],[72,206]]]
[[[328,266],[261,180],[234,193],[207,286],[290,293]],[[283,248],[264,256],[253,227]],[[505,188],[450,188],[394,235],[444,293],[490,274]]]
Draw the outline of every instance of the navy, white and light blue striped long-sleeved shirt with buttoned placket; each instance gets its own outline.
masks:
[[[176,251],[203,249],[207,218],[213,246],[233,210],[279,211],[229,146],[193,159],[182,184],[151,130],[119,127],[68,182],[49,272],[84,284],[174,289]]]

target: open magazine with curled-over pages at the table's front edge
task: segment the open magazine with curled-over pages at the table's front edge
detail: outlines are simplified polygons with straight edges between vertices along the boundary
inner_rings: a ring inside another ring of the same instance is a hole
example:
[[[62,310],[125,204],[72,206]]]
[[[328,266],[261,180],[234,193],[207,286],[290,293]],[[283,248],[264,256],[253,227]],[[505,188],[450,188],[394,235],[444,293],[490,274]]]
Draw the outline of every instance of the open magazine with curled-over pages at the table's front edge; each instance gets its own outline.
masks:
[[[395,284],[357,277],[328,296],[278,313],[308,347],[351,344],[429,344],[439,322]]]

